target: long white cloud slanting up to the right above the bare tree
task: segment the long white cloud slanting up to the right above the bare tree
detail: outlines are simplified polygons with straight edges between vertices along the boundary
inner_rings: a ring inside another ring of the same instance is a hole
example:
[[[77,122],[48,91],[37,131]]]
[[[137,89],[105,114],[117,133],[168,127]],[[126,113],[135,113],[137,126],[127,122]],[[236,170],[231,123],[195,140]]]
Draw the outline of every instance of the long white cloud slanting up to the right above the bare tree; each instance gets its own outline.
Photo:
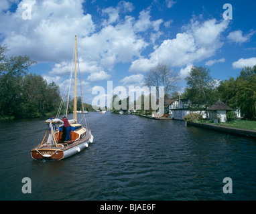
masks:
[[[133,61],[129,70],[147,72],[159,63],[182,67],[209,58],[222,46],[220,34],[227,29],[228,23],[227,20],[217,23],[216,19],[203,23],[192,20],[183,27],[184,33],[177,33],[174,39],[164,40],[149,58],[141,57]]]

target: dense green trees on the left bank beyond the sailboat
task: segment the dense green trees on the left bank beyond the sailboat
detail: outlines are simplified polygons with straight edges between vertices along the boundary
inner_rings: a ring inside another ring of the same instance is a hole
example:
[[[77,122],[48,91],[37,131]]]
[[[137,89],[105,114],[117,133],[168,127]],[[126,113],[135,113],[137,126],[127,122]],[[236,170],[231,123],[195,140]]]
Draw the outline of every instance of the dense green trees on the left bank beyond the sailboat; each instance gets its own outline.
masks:
[[[27,118],[56,112],[60,90],[54,82],[29,74],[36,62],[27,56],[7,58],[6,46],[0,46],[0,118]]]

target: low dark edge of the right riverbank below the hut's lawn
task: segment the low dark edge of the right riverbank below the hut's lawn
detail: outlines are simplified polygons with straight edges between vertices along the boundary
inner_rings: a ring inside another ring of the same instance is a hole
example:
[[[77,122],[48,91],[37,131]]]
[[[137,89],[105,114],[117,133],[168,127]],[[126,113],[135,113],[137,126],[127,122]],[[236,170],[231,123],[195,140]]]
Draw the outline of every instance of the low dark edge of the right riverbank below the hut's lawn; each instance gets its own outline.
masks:
[[[231,128],[227,126],[219,126],[214,124],[203,124],[203,123],[197,123],[197,122],[187,122],[188,126],[198,126],[202,128],[210,128],[214,130],[218,130],[220,132],[227,132],[230,134],[238,134],[242,136],[247,136],[251,138],[256,138],[256,131],[253,130],[245,130],[241,128]]]

